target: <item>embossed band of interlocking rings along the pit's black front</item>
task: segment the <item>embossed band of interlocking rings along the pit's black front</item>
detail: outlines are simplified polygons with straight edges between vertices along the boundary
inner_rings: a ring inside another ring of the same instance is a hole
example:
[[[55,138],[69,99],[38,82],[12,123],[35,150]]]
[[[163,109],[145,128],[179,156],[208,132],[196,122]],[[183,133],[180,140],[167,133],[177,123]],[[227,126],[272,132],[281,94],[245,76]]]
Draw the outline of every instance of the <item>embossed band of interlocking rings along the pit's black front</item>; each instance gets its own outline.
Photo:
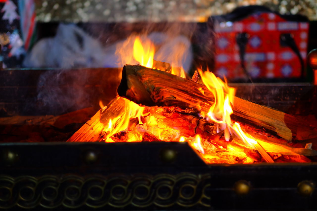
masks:
[[[0,176],[0,208],[210,207],[210,175]]]

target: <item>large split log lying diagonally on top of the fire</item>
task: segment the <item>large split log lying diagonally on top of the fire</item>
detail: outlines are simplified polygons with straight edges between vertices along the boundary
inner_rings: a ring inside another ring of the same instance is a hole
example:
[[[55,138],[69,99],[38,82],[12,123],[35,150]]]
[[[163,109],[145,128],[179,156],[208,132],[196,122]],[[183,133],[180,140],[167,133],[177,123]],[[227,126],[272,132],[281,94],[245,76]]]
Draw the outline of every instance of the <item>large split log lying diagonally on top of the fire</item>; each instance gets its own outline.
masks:
[[[142,105],[178,106],[205,113],[214,103],[214,96],[204,85],[138,65],[123,67],[118,94]],[[239,97],[234,98],[231,117],[260,133],[287,141],[317,137],[316,128],[299,118]]]

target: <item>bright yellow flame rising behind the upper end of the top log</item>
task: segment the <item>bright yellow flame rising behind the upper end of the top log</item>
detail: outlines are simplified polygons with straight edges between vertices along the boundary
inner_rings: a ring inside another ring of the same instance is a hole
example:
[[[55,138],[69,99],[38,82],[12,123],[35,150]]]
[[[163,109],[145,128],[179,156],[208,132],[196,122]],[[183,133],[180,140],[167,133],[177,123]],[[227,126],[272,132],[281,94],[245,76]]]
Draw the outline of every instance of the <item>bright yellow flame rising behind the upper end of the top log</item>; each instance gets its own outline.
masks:
[[[154,44],[148,39],[142,43],[139,36],[137,36],[133,45],[133,57],[140,63],[140,65],[152,68],[154,59]]]

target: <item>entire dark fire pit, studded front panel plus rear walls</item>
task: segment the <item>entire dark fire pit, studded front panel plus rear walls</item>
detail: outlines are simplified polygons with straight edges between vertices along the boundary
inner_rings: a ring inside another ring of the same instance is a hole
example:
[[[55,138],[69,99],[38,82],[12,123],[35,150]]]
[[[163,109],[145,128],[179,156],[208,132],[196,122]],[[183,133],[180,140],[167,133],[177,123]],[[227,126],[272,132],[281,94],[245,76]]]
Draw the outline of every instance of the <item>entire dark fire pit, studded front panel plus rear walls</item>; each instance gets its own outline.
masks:
[[[119,84],[105,84],[101,69],[2,70],[1,89],[8,94],[2,95],[1,116],[57,115],[37,98],[37,81],[50,71],[66,78],[87,74],[81,86],[88,90],[86,101],[96,104],[91,96]],[[46,86],[53,87],[41,89]],[[316,114],[311,84],[234,86],[239,97],[291,114]],[[207,165],[187,143],[172,142],[0,142],[0,157],[0,209],[317,209],[316,163]]]

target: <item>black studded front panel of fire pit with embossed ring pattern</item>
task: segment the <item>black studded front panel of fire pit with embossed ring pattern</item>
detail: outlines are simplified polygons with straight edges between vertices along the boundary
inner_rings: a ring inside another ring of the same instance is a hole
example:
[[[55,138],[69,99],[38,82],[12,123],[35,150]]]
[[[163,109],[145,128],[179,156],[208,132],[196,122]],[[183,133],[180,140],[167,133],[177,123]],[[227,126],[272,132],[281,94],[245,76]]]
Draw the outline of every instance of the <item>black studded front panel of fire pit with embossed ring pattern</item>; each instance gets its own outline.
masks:
[[[1,209],[316,209],[317,165],[206,165],[187,143],[1,144]]]

